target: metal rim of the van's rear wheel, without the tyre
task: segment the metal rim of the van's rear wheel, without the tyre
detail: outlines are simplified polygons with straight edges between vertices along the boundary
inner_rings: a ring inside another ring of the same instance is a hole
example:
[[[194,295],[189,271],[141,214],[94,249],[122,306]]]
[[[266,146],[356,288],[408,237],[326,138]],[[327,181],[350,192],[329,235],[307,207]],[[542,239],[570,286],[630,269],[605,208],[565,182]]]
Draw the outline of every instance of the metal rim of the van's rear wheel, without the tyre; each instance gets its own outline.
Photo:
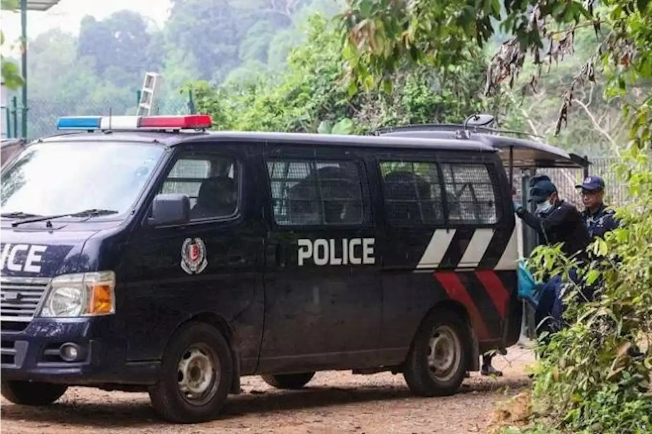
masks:
[[[430,376],[440,382],[456,375],[462,362],[462,343],[456,332],[447,325],[438,326],[428,342]]]

